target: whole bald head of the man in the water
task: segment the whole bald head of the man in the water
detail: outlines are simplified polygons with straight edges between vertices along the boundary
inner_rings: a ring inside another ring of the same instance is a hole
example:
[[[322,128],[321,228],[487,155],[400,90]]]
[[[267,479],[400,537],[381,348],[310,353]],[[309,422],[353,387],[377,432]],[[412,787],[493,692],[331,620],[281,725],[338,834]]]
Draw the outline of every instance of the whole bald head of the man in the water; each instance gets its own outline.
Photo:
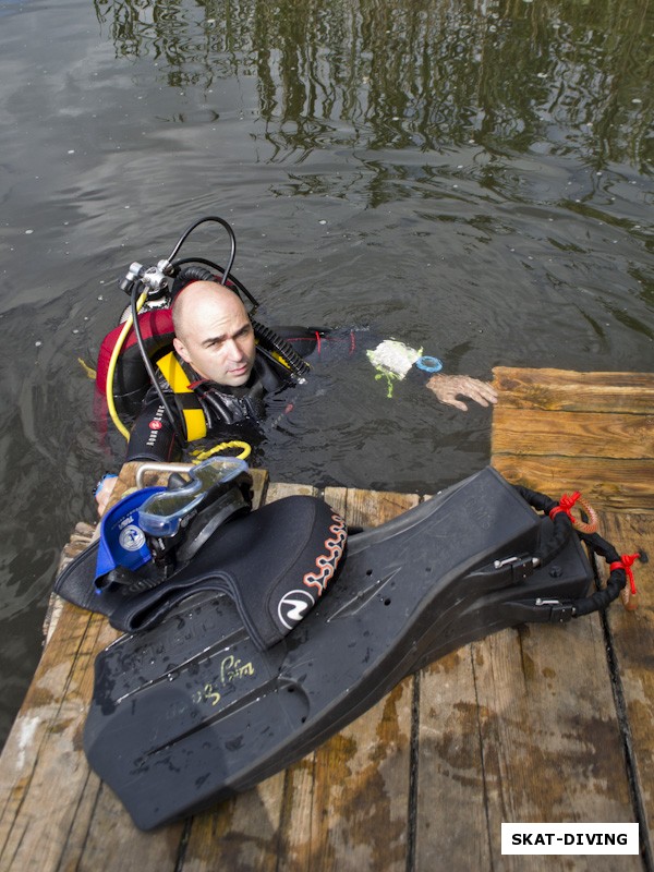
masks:
[[[254,330],[245,306],[216,281],[194,281],[178,294],[174,349],[203,378],[239,387],[254,365]]]

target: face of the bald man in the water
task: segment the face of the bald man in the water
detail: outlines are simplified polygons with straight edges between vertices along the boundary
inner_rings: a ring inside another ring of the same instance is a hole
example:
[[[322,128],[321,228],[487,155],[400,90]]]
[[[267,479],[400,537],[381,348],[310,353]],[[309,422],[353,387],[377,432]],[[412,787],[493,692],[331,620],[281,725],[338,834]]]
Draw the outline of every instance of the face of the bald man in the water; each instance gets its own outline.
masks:
[[[231,298],[201,302],[185,318],[184,336],[175,338],[174,347],[204,378],[240,387],[250,378],[256,346],[247,313],[235,294]]]

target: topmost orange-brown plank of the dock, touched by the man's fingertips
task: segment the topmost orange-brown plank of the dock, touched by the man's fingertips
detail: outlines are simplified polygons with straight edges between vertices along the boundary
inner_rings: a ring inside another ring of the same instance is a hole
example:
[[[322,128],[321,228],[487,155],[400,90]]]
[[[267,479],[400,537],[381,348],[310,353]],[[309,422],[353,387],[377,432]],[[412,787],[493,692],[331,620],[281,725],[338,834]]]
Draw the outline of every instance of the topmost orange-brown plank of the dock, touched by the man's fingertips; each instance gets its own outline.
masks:
[[[496,366],[494,384],[502,405],[568,412],[652,414],[653,373],[577,373]]]

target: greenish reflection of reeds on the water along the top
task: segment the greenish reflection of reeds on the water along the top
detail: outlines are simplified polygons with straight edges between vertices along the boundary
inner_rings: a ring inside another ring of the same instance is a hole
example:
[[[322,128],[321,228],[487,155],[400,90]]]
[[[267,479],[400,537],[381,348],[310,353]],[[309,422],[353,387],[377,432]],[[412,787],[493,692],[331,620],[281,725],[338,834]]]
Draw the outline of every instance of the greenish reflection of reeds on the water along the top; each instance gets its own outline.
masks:
[[[117,56],[166,84],[256,76],[274,159],[348,147],[547,143],[645,171],[647,0],[95,0]],[[183,119],[178,119],[183,120]],[[647,148],[650,152],[647,152]],[[492,184],[492,180],[489,180]]]

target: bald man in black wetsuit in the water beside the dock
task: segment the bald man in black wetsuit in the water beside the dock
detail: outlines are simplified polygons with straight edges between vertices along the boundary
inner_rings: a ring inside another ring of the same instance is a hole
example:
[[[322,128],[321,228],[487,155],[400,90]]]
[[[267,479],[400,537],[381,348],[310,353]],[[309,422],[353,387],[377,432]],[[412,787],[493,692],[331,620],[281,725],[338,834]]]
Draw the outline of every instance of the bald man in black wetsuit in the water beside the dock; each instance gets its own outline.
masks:
[[[261,433],[265,397],[293,384],[294,375],[286,360],[257,342],[241,299],[218,281],[191,280],[179,290],[172,303],[172,325],[173,348],[159,365],[157,380],[169,399],[173,420],[167,414],[160,392],[152,387],[132,427],[125,462],[178,460],[187,443],[205,436],[216,441],[251,441]],[[329,335],[320,331],[291,332],[304,353],[329,341]],[[386,366],[395,365],[403,371],[403,376],[411,366],[411,354],[407,358],[411,351],[402,343],[387,340],[368,351],[368,358],[377,363],[377,356],[386,354]],[[389,354],[401,355],[403,360],[392,363]],[[484,407],[496,402],[494,388],[485,382],[433,373],[426,367],[423,373],[429,376],[427,388],[440,402],[462,411],[467,405],[461,396]],[[116,476],[108,474],[98,483],[96,500],[100,514],[116,481]]]

